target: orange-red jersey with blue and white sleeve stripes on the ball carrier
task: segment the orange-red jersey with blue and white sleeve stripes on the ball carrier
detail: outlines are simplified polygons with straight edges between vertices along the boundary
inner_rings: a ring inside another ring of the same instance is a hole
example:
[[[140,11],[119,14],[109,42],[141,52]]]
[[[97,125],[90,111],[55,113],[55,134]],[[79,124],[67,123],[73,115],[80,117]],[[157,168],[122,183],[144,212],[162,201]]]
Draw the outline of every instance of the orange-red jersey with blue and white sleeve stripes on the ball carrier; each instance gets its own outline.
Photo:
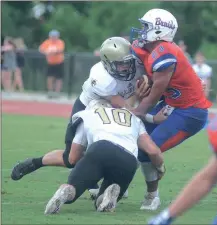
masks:
[[[175,43],[161,42],[152,52],[148,52],[138,47],[137,41],[134,41],[132,51],[143,63],[150,78],[154,72],[161,72],[175,65],[168,88],[163,94],[168,105],[183,109],[188,107],[207,109],[212,105],[204,95],[201,80]]]

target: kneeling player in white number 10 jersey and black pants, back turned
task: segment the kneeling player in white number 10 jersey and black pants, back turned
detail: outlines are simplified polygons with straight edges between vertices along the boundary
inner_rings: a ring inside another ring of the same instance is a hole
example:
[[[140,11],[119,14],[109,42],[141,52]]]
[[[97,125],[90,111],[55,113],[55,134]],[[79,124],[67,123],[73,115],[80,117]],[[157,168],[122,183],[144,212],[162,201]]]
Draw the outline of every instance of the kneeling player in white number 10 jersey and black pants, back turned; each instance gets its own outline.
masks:
[[[125,108],[111,108],[106,100],[93,100],[86,110],[72,117],[74,143],[87,147],[83,158],[48,202],[45,214],[59,212],[103,178],[97,211],[114,211],[137,170],[138,146],[146,152],[158,178],[165,172],[160,149],[146,133],[143,122]],[[79,151],[79,149],[77,148]],[[81,156],[83,149],[80,149]]]

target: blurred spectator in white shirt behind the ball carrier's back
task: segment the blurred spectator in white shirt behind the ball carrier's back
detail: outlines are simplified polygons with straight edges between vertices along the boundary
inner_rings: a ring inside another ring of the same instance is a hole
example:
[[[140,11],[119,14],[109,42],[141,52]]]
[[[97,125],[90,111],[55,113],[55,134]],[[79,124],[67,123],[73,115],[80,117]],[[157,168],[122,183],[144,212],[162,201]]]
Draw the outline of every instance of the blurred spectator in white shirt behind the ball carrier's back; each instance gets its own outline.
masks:
[[[193,65],[193,69],[206,85],[205,95],[206,97],[209,97],[212,67],[205,63],[205,57],[202,52],[198,52],[195,55],[195,64]]]

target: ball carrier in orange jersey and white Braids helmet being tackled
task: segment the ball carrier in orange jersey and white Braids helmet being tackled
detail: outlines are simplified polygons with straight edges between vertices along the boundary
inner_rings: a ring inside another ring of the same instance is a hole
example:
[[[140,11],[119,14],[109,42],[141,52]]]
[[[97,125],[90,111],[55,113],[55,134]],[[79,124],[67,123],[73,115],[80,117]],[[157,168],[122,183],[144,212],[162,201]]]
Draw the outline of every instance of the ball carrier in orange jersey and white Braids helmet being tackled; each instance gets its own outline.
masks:
[[[167,105],[169,116],[163,123],[145,124],[152,140],[165,152],[204,127],[211,103],[188,59],[173,42],[178,29],[176,18],[166,10],[152,9],[139,21],[142,28],[132,28],[132,34],[138,34],[132,44],[133,54],[144,65],[153,85],[134,113],[156,115]],[[162,95],[165,100],[157,104]],[[149,117],[150,121],[152,119]],[[139,152],[139,160],[142,170],[151,171],[147,155]],[[144,175],[148,181],[148,193],[141,209],[156,210],[160,205],[157,177],[154,174],[147,177],[145,172]]]

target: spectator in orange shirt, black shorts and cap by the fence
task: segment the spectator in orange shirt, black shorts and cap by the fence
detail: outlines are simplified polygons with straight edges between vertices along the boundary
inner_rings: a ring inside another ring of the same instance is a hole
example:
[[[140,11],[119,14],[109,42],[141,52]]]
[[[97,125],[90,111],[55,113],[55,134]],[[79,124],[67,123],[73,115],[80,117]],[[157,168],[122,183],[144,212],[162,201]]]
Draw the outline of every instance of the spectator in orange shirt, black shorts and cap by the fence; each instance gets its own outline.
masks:
[[[49,39],[45,40],[39,47],[39,51],[46,56],[48,64],[48,97],[58,96],[62,89],[65,43],[59,36],[60,33],[57,30],[50,31]]]

